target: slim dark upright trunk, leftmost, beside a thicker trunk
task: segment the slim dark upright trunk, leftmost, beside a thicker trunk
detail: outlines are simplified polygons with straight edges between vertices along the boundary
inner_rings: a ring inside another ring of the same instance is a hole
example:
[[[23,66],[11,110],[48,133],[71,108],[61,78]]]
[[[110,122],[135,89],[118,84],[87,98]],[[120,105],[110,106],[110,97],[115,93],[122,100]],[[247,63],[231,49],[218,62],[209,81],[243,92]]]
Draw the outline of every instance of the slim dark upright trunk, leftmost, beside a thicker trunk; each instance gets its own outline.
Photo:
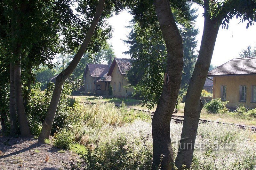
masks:
[[[17,113],[15,106],[14,65],[10,64],[10,136],[17,135]]]

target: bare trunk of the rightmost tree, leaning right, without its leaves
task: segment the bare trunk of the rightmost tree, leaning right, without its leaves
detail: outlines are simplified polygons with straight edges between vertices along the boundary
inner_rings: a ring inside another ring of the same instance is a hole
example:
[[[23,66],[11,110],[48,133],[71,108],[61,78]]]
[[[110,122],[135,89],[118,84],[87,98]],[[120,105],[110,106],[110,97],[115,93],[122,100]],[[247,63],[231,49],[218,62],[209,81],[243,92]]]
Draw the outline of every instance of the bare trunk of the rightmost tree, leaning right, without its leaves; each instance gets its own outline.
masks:
[[[211,16],[208,14],[208,6],[209,0],[205,0],[202,42],[187,90],[179,152],[175,160],[175,166],[179,169],[182,165],[186,165],[189,169],[192,163],[199,117],[203,108],[200,96],[210,68],[212,53],[220,27],[216,19],[210,19]]]

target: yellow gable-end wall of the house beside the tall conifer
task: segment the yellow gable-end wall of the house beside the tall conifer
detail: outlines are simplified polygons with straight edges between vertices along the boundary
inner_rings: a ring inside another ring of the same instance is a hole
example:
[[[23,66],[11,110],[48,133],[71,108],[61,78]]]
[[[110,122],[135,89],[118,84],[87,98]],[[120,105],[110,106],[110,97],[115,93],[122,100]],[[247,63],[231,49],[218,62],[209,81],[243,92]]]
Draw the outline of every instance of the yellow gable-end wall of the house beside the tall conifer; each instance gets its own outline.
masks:
[[[119,82],[121,82],[121,90],[119,91]],[[114,83],[116,83],[116,90],[114,88]],[[132,87],[124,88],[123,86],[127,86],[130,83],[128,83],[125,76],[120,74],[120,70],[117,66],[117,64],[114,67],[114,70],[111,75],[111,86],[113,89],[113,96],[115,97],[125,97],[126,90],[127,90],[127,97],[129,94],[132,94],[134,92]]]

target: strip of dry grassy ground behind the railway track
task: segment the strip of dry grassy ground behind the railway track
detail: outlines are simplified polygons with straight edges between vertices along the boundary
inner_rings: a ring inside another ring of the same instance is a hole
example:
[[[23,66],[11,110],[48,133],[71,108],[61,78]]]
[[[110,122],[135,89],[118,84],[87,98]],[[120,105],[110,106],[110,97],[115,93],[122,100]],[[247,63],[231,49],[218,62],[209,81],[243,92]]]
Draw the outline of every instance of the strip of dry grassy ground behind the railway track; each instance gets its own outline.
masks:
[[[104,101],[104,102],[113,102],[116,105],[120,105],[122,101],[131,108],[136,108],[136,109],[143,109],[143,110],[148,110],[146,106],[141,107],[143,102],[141,100],[136,100],[136,99],[100,99],[99,96],[72,96],[73,98],[79,99],[82,102],[86,101],[92,101],[92,102],[99,102],[99,101]],[[178,113],[174,115],[184,115],[184,103],[179,103],[178,105]],[[155,111],[156,106],[152,108],[149,111]],[[247,126],[256,126],[256,118],[252,118],[249,116],[239,116],[237,113],[234,112],[228,112],[224,114],[209,114],[207,111],[203,108],[200,119],[205,119],[205,120],[211,120],[211,121],[218,121],[218,122],[226,122],[226,123],[234,123],[234,124],[240,124],[240,125],[247,125]]]

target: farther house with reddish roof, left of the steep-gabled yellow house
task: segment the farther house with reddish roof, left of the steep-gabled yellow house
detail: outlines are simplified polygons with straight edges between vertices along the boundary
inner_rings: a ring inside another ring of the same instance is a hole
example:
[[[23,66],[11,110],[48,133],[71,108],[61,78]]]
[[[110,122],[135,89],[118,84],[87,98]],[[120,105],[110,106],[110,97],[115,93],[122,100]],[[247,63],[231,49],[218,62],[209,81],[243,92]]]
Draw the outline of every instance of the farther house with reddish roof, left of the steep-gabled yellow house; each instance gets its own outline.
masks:
[[[87,64],[84,71],[84,94],[108,95],[111,77],[107,76],[109,66],[106,64]]]

